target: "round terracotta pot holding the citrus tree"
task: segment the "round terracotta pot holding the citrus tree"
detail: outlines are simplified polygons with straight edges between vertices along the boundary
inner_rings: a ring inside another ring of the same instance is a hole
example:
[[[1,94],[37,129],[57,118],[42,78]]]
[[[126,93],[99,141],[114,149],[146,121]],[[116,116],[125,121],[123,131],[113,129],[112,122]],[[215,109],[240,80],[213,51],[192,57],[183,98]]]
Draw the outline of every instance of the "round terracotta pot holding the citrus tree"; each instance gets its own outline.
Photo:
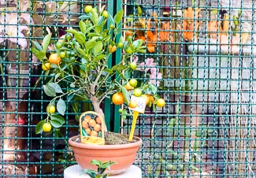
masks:
[[[77,137],[76,135],[70,138],[69,145],[72,146],[78,165],[83,169],[96,170],[97,167],[91,165],[91,160],[93,159],[98,161],[116,161],[117,164],[111,165],[111,170],[106,169],[106,172],[109,172],[111,175],[128,170],[135,161],[139,146],[143,143],[142,139],[134,137],[138,142],[121,145],[91,145],[73,141]]]

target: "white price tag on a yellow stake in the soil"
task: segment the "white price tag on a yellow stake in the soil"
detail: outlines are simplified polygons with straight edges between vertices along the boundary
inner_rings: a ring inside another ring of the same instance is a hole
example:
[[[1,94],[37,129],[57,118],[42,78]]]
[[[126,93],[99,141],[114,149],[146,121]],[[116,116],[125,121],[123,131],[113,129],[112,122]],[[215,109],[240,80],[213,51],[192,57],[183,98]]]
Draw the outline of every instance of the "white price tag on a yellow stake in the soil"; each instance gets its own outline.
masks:
[[[139,113],[144,113],[146,108],[146,99],[143,97],[136,97],[135,95],[131,96],[131,100],[134,100],[137,102],[137,106],[135,108],[129,108],[133,110],[133,118],[132,118],[132,129],[129,135],[129,141],[132,141],[134,131],[135,131],[135,125],[137,118],[139,116]]]

